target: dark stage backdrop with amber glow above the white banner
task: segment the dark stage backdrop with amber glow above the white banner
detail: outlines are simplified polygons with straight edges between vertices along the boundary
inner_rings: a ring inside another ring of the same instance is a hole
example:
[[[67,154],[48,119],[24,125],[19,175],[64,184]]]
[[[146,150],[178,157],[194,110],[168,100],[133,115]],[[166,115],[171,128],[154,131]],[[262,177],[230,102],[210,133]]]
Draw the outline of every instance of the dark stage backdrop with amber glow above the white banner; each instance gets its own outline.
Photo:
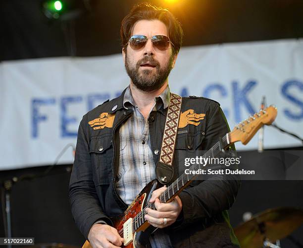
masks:
[[[0,0],[1,60],[121,52],[120,24],[138,0],[64,0],[74,20],[50,20],[43,0]],[[184,30],[183,46],[303,37],[302,0],[152,0]],[[64,18],[63,18],[64,19]],[[71,51],[70,47],[74,49]]]

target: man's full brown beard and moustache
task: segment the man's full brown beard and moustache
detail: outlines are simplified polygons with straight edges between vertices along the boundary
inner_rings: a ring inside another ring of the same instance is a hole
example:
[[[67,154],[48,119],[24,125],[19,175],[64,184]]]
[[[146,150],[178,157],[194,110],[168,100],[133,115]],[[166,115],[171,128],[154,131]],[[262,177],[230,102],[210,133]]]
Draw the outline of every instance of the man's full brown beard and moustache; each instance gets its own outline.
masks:
[[[139,72],[140,65],[144,62],[151,62],[154,69],[143,69]],[[125,69],[128,76],[131,78],[134,85],[142,91],[153,91],[161,88],[167,79],[173,63],[173,56],[171,55],[169,61],[163,66],[156,61],[152,56],[146,56],[136,63],[136,66],[130,63],[128,56],[125,59]]]

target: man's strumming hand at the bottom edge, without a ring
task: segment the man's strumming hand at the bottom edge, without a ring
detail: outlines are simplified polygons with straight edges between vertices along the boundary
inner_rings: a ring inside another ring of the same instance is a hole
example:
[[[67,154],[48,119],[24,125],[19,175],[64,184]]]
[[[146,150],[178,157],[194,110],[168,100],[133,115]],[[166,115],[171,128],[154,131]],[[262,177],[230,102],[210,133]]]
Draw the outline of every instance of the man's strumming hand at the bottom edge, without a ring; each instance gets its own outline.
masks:
[[[93,248],[118,248],[124,242],[117,229],[106,224],[94,224],[88,239]]]

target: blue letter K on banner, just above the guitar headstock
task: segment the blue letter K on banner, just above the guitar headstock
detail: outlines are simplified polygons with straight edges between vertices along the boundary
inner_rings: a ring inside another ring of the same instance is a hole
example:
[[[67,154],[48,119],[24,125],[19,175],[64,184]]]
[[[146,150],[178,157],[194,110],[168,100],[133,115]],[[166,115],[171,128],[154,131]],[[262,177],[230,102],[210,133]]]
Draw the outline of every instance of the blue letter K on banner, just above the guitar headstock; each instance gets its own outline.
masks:
[[[236,122],[241,122],[241,109],[240,104],[244,103],[245,107],[248,109],[250,114],[254,114],[255,111],[253,110],[252,104],[247,99],[247,94],[249,91],[253,89],[253,87],[257,83],[255,81],[249,81],[242,90],[239,89],[238,82],[232,82],[233,92],[234,92],[234,109],[236,115]]]

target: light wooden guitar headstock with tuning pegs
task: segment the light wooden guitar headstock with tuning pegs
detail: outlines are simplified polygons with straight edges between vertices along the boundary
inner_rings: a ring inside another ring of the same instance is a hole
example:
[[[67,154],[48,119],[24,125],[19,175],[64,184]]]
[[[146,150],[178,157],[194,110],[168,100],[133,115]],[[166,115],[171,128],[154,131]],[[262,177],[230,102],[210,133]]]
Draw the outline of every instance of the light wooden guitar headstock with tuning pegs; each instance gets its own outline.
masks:
[[[276,116],[277,108],[275,106],[270,105],[268,108],[260,110],[259,113],[235,125],[235,128],[230,132],[230,142],[241,141],[242,144],[246,145],[262,125],[272,124]]]

